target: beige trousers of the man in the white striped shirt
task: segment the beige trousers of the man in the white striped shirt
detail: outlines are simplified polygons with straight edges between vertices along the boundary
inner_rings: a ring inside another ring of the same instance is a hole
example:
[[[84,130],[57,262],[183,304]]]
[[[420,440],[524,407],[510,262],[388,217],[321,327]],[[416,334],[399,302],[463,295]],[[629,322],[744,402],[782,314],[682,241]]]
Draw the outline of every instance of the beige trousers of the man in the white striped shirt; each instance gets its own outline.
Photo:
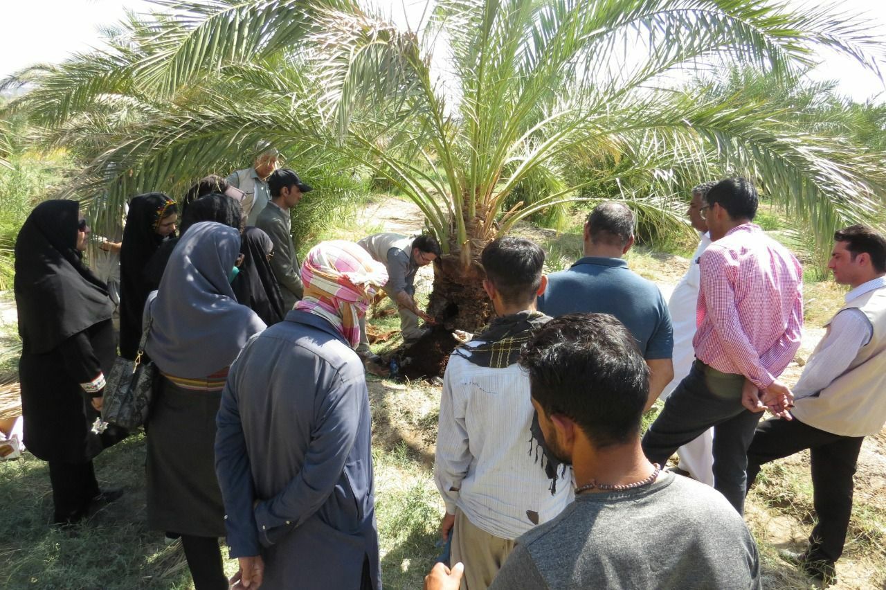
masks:
[[[514,541],[500,539],[479,529],[458,508],[455,508],[452,531],[449,563],[464,564],[461,590],[486,590],[514,550]]]

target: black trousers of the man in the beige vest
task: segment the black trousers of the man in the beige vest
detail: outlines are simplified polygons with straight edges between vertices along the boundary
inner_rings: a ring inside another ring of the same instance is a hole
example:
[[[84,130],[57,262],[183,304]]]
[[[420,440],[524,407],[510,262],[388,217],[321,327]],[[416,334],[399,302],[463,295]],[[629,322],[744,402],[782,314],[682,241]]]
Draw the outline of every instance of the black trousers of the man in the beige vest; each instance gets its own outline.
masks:
[[[819,517],[809,536],[806,558],[834,563],[843,555],[852,512],[852,476],[864,437],[844,437],[797,420],[773,418],[761,423],[748,448],[748,487],[760,465],[809,449],[812,504]]]

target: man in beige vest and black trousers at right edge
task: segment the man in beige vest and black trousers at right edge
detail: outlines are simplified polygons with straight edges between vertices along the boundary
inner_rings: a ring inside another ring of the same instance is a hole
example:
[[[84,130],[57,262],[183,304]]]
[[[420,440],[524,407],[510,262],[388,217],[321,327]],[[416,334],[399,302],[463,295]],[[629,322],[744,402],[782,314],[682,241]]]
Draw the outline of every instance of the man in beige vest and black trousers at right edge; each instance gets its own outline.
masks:
[[[761,464],[810,450],[819,522],[804,553],[780,555],[824,582],[836,581],[834,563],[843,555],[861,443],[886,423],[886,238],[853,225],[834,239],[828,268],[836,283],[852,288],[846,305],[825,324],[794,387],[795,419],[760,423],[748,448],[749,487]],[[756,387],[745,405],[763,411]]]

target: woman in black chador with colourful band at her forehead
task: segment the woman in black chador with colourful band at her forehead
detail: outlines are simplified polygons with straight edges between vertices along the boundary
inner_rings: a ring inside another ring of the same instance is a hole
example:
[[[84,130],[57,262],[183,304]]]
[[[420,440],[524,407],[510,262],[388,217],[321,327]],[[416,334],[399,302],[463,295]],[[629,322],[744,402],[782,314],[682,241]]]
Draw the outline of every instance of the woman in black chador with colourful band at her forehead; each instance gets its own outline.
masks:
[[[175,237],[178,207],[162,192],[149,192],[129,201],[120,248],[120,356],[136,358],[142,339],[142,313],[152,284],[145,268],[160,243]]]

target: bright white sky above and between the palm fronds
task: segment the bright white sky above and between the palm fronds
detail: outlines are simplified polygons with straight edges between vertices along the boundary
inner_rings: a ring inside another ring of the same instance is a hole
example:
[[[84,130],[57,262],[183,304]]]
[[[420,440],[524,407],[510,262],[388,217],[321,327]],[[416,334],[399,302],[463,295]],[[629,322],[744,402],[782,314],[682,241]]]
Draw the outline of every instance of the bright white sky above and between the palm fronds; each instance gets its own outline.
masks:
[[[401,21],[406,6],[410,24],[421,15],[422,0],[376,0],[390,6],[395,19]],[[808,9],[819,0],[790,0],[791,4]],[[58,62],[73,52],[87,51],[99,42],[98,28],[115,24],[126,9],[148,12],[146,0],[0,0],[0,19],[6,24],[0,35],[0,77],[41,62]],[[886,2],[882,0],[841,0],[843,12],[867,14],[872,27],[886,37]],[[15,26],[14,23],[27,23]],[[39,33],[39,38],[36,33]],[[851,58],[821,55],[822,64],[812,74],[818,80],[838,80],[839,89],[855,100],[877,97],[886,100],[886,86],[874,74]],[[878,97],[878,95],[880,95]]]

